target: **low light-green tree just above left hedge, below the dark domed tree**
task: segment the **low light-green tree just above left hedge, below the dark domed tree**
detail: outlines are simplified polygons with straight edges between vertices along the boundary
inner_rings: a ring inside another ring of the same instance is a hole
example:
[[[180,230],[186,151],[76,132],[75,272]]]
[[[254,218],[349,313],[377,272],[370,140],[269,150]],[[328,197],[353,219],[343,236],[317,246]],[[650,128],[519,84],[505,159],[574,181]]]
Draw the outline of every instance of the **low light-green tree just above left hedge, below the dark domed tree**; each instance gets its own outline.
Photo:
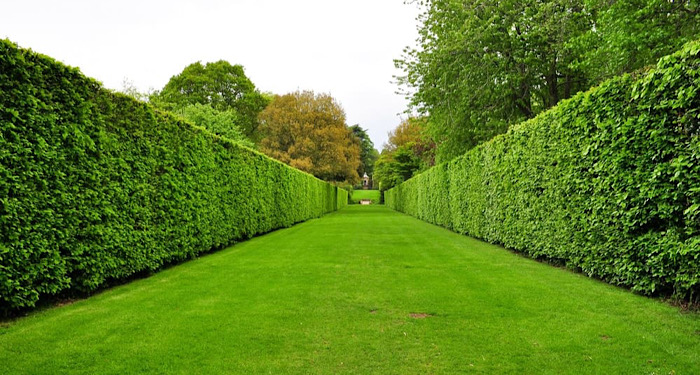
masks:
[[[255,144],[248,140],[236,125],[239,122],[238,114],[232,110],[217,111],[209,104],[197,103],[185,106],[175,113],[214,134],[250,148],[255,147]]]

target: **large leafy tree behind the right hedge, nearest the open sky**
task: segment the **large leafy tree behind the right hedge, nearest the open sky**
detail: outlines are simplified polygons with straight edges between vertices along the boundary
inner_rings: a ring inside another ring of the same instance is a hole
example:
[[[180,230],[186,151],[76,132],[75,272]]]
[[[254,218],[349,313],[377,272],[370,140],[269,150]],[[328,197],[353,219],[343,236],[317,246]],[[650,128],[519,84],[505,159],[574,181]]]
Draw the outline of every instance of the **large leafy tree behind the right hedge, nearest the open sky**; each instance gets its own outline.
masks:
[[[429,116],[439,161],[461,155],[586,85],[566,42],[588,28],[579,0],[433,0],[397,66]]]

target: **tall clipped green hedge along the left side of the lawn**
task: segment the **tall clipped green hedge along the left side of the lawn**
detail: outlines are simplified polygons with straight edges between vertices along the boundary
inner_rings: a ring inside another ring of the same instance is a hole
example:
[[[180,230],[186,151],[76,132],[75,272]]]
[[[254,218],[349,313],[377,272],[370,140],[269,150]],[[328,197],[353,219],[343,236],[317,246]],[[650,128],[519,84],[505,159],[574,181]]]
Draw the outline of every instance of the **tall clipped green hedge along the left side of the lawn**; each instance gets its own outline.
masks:
[[[0,310],[346,204],[343,189],[0,41]]]

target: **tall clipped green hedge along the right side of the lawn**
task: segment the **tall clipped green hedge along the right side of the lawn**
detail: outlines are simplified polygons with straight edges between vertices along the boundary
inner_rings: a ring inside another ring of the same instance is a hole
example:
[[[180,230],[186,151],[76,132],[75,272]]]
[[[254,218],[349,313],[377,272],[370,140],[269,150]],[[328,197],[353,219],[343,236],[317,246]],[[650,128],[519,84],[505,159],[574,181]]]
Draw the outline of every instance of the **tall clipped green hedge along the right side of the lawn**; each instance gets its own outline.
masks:
[[[385,193],[431,223],[644,294],[700,292],[700,42]]]

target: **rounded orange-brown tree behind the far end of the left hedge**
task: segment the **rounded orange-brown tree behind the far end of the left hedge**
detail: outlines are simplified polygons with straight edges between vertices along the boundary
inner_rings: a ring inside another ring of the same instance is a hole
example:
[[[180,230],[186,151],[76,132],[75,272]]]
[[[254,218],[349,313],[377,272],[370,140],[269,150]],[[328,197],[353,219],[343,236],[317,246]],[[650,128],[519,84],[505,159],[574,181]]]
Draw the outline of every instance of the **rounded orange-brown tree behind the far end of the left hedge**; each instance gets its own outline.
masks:
[[[322,180],[359,182],[359,142],[330,95],[297,91],[276,96],[260,120],[259,145],[265,154]]]

